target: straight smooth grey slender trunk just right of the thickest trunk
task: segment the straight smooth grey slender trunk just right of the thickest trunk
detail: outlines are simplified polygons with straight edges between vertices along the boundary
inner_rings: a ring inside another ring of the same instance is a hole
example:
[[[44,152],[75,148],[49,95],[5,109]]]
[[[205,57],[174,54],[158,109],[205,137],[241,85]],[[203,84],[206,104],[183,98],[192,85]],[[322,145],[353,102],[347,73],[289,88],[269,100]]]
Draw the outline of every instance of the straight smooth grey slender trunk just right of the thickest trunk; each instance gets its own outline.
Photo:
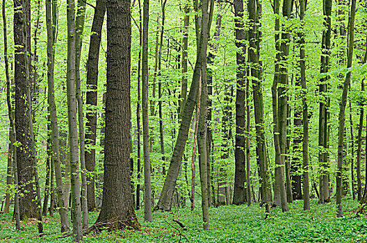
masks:
[[[149,0],[143,3],[142,19],[142,142],[144,152],[144,219],[151,222],[152,219],[152,186],[150,180],[149,160],[149,119],[148,119],[148,24],[149,24]]]

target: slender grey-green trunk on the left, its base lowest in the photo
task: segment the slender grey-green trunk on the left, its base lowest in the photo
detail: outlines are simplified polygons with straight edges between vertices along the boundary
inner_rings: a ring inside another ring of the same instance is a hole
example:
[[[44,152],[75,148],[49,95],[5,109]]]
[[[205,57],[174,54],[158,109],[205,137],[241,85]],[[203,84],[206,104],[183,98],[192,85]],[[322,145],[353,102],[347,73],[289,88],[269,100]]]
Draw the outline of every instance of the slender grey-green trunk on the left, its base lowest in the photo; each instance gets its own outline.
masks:
[[[83,240],[79,181],[78,127],[76,124],[76,33],[74,0],[67,1],[67,118],[69,124],[70,178],[74,242]]]

